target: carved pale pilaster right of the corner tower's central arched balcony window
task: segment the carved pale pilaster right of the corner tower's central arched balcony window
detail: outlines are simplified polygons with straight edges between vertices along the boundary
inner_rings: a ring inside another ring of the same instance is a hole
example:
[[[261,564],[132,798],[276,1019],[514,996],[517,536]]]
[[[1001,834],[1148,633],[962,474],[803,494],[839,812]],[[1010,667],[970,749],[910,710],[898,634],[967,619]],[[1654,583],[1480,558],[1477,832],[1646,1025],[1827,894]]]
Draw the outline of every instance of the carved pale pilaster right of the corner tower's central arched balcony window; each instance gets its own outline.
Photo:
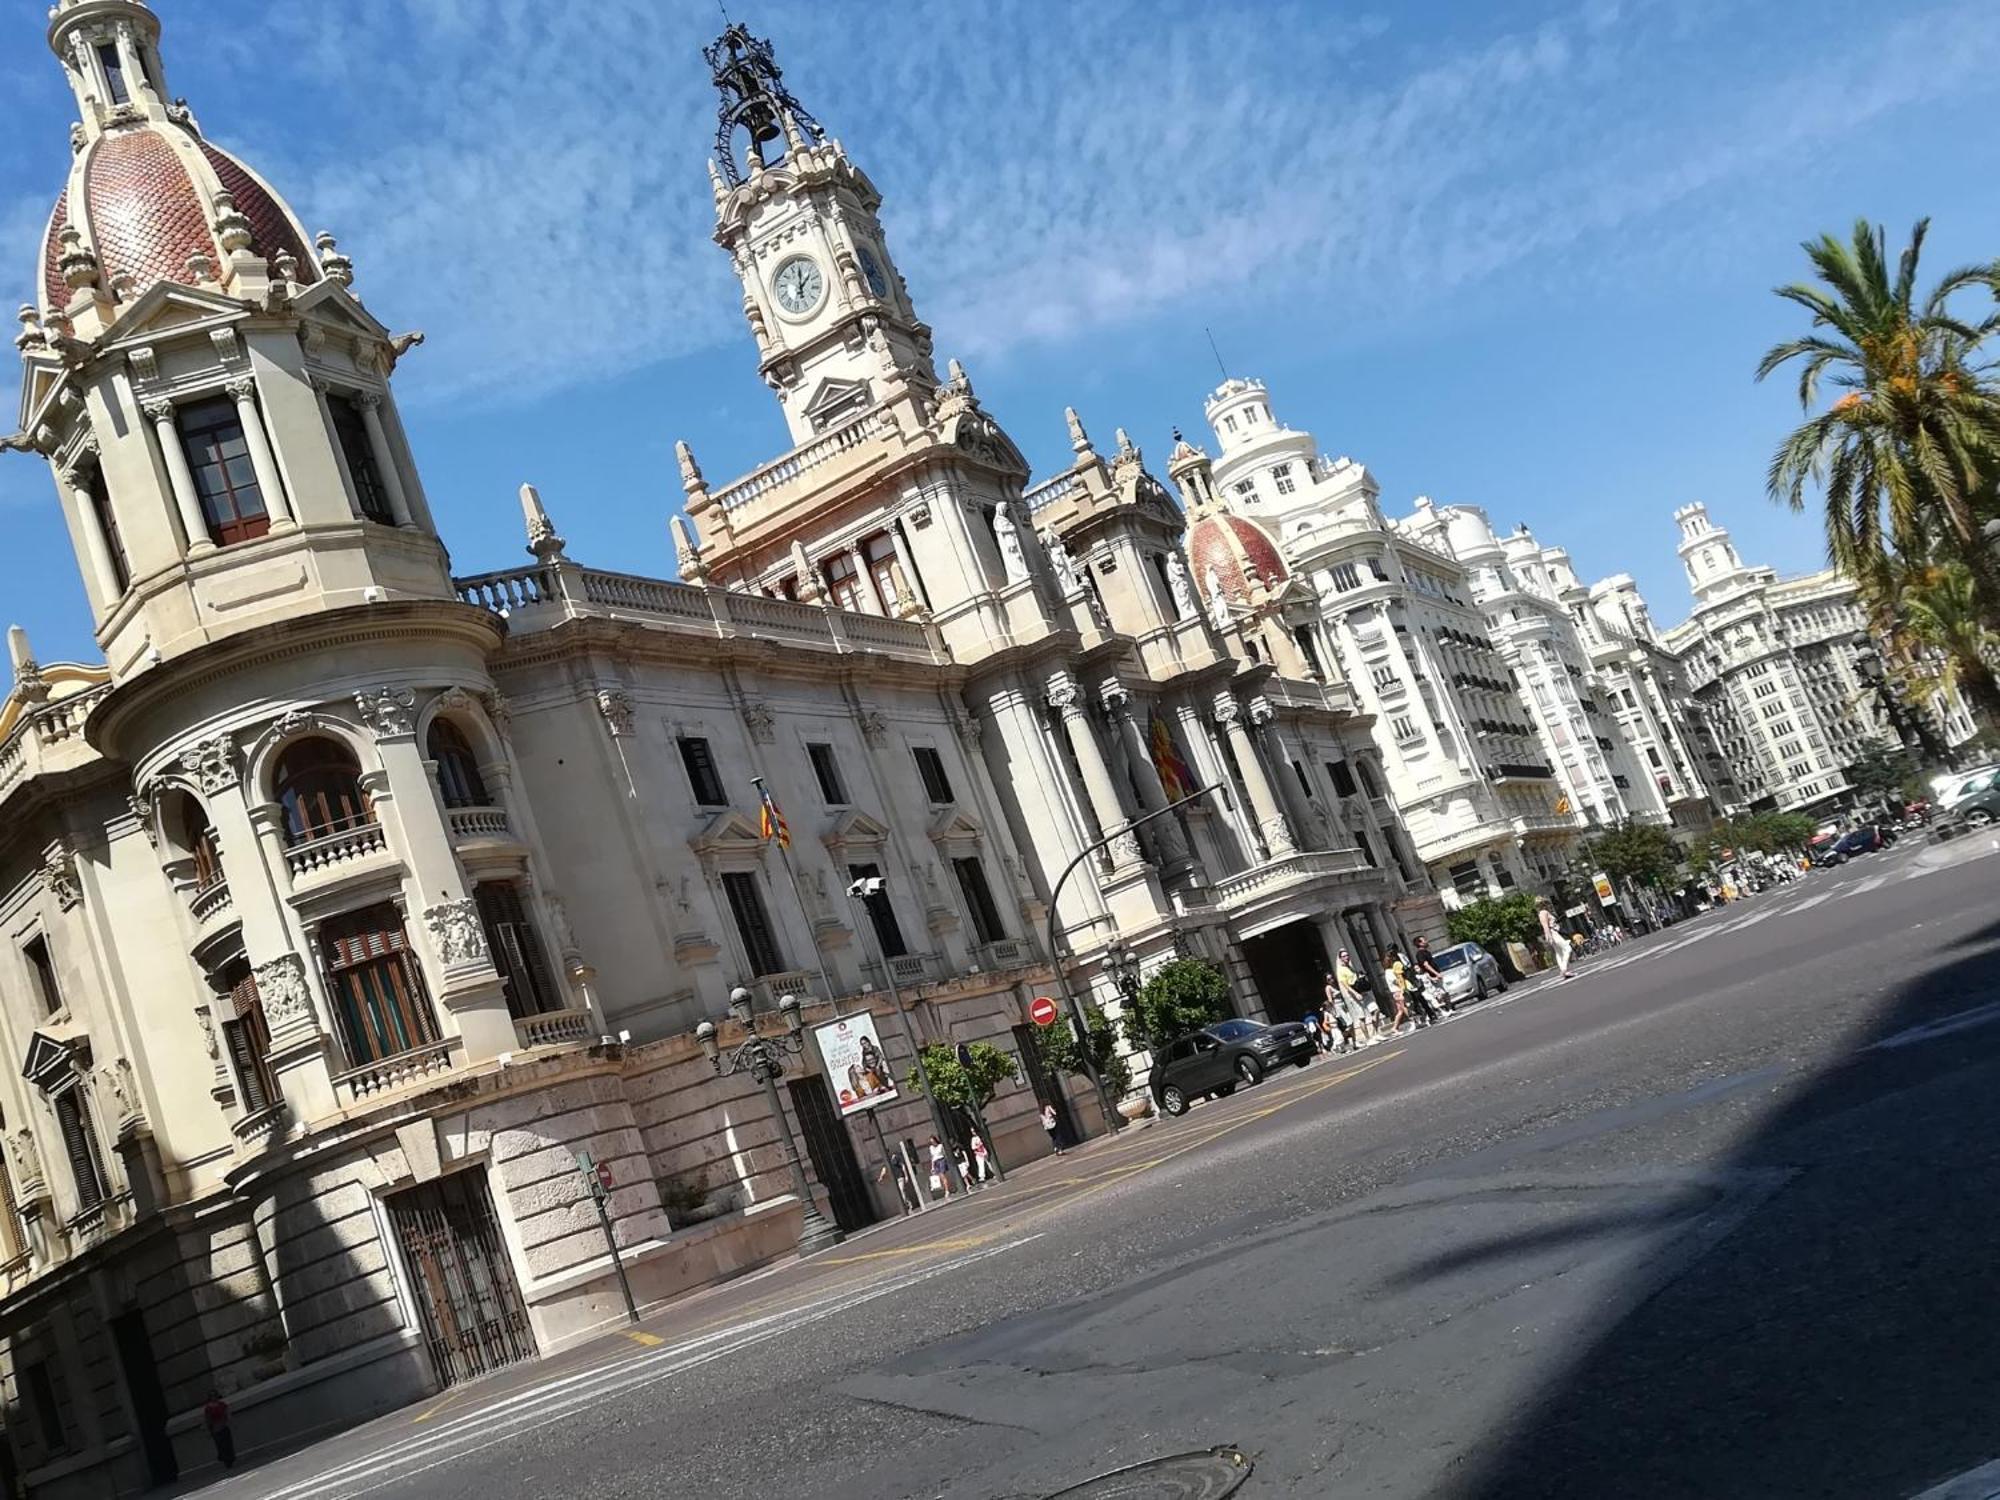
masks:
[[[452,1018],[448,1030],[464,1038],[466,1062],[512,1052],[518,1040],[506,986],[486,950],[486,928],[416,742],[416,694],[410,688],[376,688],[356,694],[354,706],[374,732],[382,760],[380,770],[362,776],[362,786],[408,872],[404,890],[414,892],[412,914],[422,916],[422,930],[410,932],[410,938],[424,952],[432,998]]]

